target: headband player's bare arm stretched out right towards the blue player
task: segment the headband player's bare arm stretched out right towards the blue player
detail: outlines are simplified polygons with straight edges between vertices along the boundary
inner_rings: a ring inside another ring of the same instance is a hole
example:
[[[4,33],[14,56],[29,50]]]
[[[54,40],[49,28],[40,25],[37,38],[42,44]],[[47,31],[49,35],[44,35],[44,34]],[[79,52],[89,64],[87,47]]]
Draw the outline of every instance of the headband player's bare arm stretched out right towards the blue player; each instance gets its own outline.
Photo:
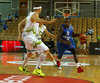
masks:
[[[33,20],[33,21],[36,21],[36,22],[42,23],[42,24],[51,24],[51,23],[55,22],[57,19],[58,18],[55,18],[55,19],[50,20],[50,21],[47,21],[47,20],[44,20],[44,19],[40,19],[38,14],[35,13],[35,14],[32,15],[31,21]]]

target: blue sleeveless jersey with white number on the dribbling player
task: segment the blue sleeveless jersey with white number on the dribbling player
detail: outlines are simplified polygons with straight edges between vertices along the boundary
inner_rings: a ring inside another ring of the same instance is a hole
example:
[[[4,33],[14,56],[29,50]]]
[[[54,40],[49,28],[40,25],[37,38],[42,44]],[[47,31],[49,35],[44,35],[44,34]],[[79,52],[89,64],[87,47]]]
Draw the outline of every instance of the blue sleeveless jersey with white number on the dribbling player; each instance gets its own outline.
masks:
[[[75,48],[75,42],[72,38],[73,27],[71,25],[69,25],[69,28],[67,29],[65,27],[65,24],[62,24],[61,27],[63,27],[63,32],[62,32],[60,38],[65,40],[65,41],[70,40],[71,45],[66,45],[64,43],[61,43],[61,42],[57,41],[57,47],[59,47],[59,44],[62,44],[64,46],[66,45],[66,49]]]

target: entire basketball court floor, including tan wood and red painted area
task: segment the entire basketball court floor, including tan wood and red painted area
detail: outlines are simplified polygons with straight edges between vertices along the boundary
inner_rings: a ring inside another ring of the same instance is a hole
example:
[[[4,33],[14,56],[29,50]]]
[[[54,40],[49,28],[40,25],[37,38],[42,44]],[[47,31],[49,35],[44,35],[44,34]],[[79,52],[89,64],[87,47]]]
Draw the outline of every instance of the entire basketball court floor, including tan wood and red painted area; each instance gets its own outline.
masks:
[[[72,55],[63,56],[61,60],[62,70],[54,68],[53,63],[47,56],[42,65],[42,71],[47,77],[42,78],[32,74],[37,64],[38,56],[35,59],[29,59],[27,63],[29,75],[25,75],[18,70],[18,67],[23,63],[22,54],[0,53],[0,83],[100,83],[99,55],[78,55],[79,62],[84,69],[83,73],[77,73]],[[23,80],[17,82],[16,79],[12,81],[11,78],[22,78]]]

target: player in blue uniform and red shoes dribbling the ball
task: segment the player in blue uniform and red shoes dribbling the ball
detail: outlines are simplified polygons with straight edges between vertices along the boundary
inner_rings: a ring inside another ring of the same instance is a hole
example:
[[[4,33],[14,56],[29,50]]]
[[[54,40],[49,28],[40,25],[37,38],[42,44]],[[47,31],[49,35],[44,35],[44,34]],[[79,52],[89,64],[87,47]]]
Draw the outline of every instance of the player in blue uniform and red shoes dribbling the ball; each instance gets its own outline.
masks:
[[[72,37],[78,37],[79,34],[75,34],[73,32],[73,27],[70,24],[70,20],[66,18],[64,20],[64,24],[59,27],[57,34],[57,66],[60,67],[60,60],[63,56],[64,51],[67,49],[72,52],[74,61],[77,65],[77,72],[81,73],[84,70],[80,67],[80,63],[78,61],[76,51],[75,51],[75,43]]]

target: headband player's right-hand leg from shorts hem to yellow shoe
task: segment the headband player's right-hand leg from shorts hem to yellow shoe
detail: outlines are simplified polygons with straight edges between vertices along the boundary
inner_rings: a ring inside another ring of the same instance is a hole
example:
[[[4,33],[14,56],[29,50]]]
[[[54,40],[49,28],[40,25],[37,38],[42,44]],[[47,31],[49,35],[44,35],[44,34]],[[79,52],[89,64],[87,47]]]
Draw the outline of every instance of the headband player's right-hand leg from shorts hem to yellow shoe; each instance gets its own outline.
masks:
[[[35,70],[33,71],[34,75],[38,75],[41,77],[45,77],[46,75],[42,72],[41,70],[41,64],[43,63],[43,61],[46,58],[46,55],[48,55],[49,53],[49,48],[43,43],[41,42],[40,44],[38,44],[35,48],[36,52],[38,54],[40,54],[39,59],[38,59],[38,63],[36,65]]]

